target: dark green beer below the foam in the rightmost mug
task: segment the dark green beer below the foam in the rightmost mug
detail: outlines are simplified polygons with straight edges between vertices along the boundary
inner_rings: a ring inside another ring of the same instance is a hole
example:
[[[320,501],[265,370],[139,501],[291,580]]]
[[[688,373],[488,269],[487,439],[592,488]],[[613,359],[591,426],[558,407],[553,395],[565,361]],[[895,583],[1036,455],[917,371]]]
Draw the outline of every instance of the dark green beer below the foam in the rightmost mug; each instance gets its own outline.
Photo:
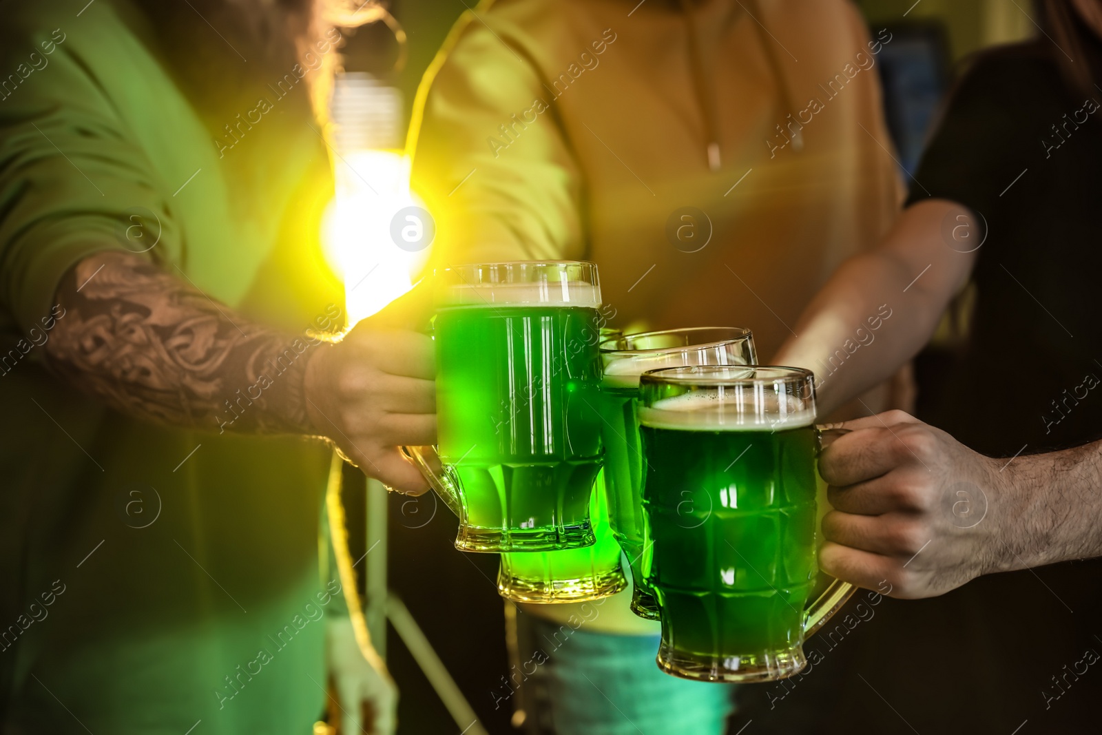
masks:
[[[670,646],[722,658],[798,644],[814,583],[814,429],[644,426],[642,441],[650,463],[644,502],[661,539],[651,583]]]

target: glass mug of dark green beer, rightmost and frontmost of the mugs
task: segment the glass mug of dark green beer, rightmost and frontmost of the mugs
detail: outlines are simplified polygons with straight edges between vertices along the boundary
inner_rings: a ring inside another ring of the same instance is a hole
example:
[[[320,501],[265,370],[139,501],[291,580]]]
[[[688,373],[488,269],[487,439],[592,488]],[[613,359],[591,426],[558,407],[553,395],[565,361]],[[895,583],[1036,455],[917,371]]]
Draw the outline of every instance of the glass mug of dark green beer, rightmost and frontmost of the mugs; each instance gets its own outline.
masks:
[[[803,639],[853,594],[818,574],[814,378],[788,367],[682,367],[640,379],[648,584],[658,666],[700,681],[790,677]]]

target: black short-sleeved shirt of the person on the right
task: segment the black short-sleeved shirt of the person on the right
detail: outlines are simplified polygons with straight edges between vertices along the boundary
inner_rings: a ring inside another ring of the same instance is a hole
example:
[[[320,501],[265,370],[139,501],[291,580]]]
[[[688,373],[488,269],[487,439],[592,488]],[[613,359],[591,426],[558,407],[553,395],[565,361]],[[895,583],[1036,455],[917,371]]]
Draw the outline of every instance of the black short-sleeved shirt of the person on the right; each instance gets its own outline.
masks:
[[[1099,45],[1077,63],[1099,56]],[[1052,52],[1042,39],[981,57],[911,181],[910,203],[958,202],[987,230],[966,344],[932,393],[920,385],[928,408],[919,418],[1006,457],[1011,473],[1015,454],[1020,461],[1102,436],[1102,91],[1072,91]],[[1096,79],[1100,67],[1092,63]],[[963,231],[951,235],[959,224],[943,227],[947,247],[969,249]],[[977,245],[982,233],[972,235]],[[806,644],[818,661],[810,671],[742,688],[736,725],[753,718],[756,733],[1099,732],[1100,587],[1102,563],[1089,560],[983,576],[931,599],[858,591]],[[847,612],[850,624],[839,623]]]

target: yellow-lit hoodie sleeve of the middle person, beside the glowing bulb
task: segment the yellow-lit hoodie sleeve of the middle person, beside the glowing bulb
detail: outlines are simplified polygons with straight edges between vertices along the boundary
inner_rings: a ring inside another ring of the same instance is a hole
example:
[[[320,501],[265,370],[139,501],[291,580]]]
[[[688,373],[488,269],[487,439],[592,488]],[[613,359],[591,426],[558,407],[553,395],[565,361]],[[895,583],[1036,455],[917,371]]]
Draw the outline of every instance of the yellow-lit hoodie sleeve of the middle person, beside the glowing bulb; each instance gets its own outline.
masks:
[[[580,172],[536,44],[478,18],[460,19],[414,105],[412,186],[436,219],[433,260],[580,258]]]

